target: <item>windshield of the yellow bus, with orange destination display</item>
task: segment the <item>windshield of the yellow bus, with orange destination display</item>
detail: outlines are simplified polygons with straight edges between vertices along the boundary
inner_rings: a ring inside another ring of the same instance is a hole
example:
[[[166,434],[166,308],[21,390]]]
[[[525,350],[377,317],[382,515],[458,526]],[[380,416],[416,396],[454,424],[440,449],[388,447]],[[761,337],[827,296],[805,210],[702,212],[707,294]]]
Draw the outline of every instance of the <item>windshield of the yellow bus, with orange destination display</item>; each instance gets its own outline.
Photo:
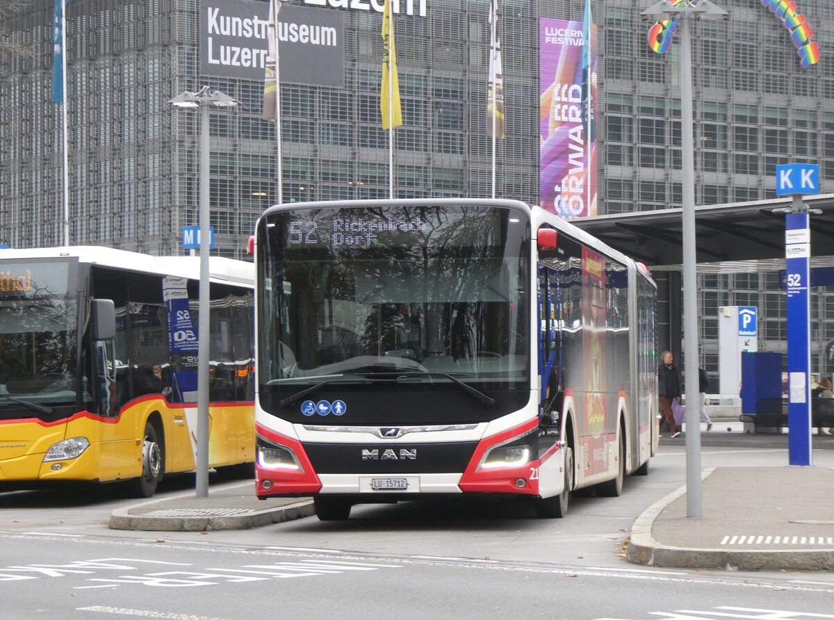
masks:
[[[0,408],[75,402],[78,315],[67,298],[68,268],[66,262],[3,264]]]

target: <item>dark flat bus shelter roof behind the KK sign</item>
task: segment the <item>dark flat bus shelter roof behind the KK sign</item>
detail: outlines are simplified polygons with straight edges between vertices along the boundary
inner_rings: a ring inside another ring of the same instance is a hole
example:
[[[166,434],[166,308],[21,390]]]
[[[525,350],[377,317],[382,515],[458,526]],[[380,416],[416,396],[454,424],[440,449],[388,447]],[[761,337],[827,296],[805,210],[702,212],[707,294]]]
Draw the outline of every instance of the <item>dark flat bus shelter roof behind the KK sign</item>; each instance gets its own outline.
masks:
[[[811,213],[811,266],[834,266],[834,194],[803,197]],[[766,272],[785,269],[785,213],[791,197],[696,206],[699,273]],[[682,211],[661,209],[573,219],[615,250],[653,271],[680,271]]]

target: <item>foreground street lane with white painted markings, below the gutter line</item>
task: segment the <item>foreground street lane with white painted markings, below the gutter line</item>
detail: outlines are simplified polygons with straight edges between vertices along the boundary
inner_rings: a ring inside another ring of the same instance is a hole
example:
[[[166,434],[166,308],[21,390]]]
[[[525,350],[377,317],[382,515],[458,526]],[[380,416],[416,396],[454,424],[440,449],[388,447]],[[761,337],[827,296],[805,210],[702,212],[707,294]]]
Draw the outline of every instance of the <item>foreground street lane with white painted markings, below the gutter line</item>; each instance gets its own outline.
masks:
[[[3,535],[3,617],[834,618],[813,577]],[[816,614],[816,615],[811,615]]]

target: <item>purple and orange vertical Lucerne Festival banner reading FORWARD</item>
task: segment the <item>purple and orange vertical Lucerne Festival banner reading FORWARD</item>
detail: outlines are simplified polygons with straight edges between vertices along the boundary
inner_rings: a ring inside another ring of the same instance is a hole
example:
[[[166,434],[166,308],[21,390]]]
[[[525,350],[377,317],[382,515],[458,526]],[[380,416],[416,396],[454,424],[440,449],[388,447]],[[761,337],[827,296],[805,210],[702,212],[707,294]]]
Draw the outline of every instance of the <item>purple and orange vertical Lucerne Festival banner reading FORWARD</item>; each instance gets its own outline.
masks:
[[[565,219],[596,215],[596,26],[541,18],[540,204]]]

